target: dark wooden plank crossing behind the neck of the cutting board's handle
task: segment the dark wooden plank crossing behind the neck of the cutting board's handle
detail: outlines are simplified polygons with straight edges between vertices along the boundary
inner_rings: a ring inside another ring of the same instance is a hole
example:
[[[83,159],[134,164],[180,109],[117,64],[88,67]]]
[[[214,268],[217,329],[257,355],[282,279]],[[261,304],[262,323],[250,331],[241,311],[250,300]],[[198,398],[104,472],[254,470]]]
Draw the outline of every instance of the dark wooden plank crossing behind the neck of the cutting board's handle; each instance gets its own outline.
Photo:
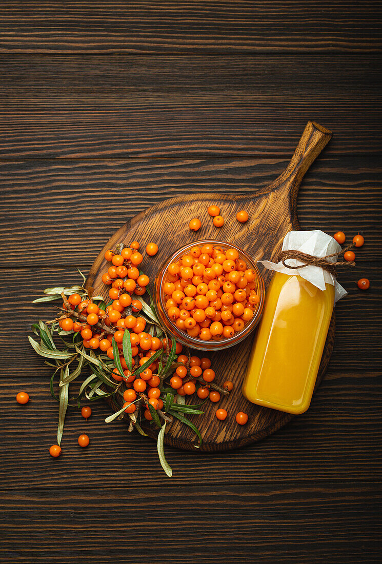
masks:
[[[1,267],[86,270],[112,233],[149,206],[200,191],[256,193],[286,164],[284,159],[254,158],[1,161]],[[355,280],[382,254],[381,173],[376,157],[321,156],[298,196],[302,229],[364,234]],[[210,222],[207,213],[201,219]],[[224,227],[220,232],[224,237]]]

